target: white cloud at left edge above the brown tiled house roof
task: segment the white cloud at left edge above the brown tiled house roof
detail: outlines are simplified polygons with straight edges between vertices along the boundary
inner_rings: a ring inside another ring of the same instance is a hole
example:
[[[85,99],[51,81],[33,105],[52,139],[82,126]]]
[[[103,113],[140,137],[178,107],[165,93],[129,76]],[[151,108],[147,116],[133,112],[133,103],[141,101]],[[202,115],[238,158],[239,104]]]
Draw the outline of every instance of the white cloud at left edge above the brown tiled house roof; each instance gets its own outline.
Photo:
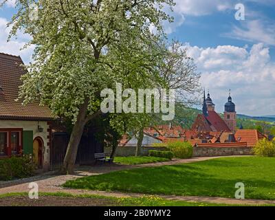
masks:
[[[30,40],[30,36],[19,32],[17,38],[12,37],[12,39],[7,42],[10,33],[10,28],[7,28],[7,23],[8,21],[6,19],[0,17],[0,52],[21,56],[24,63],[29,63],[31,61],[34,46],[30,46],[24,50],[21,49],[23,49],[25,43]]]

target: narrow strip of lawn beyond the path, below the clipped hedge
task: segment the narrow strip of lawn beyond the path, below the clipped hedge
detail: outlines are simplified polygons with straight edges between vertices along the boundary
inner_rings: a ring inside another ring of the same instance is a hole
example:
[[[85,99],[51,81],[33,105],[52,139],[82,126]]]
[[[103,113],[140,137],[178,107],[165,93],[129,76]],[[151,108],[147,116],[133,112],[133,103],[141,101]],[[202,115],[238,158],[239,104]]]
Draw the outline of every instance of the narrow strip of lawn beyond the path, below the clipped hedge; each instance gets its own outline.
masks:
[[[155,162],[166,162],[170,159],[163,157],[115,157],[114,162],[118,164],[127,164],[127,165],[135,165],[135,164],[149,164]]]

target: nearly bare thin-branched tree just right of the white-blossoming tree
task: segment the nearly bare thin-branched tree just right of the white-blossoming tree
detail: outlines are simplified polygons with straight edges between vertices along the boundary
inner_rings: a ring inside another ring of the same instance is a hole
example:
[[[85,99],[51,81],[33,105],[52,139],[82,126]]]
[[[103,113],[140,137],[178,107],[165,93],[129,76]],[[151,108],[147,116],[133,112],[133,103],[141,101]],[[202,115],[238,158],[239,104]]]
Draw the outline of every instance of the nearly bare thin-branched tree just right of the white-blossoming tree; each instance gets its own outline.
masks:
[[[190,121],[193,120],[192,112],[187,107],[190,104],[198,104],[199,100],[195,94],[200,91],[201,87],[199,79],[201,75],[197,72],[197,67],[192,58],[187,56],[186,47],[179,41],[171,41],[166,43],[162,41],[160,47],[164,51],[163,62],[159,62],[157,65],[159,74],[164,80],[164,84],[168,89],[175,89],[176,91],[176,104],[175,113],[176,117],[173,120],[176,124],[184,124],[184,126],[190,126]],[[141,123],[137,131],[137,148],[135,155],[138,155],[138,149],[142,146],[142,140],[144,138],[144,127],[148,125],[164,124],[158,117],[154,115],[152,120],[148,123]]]

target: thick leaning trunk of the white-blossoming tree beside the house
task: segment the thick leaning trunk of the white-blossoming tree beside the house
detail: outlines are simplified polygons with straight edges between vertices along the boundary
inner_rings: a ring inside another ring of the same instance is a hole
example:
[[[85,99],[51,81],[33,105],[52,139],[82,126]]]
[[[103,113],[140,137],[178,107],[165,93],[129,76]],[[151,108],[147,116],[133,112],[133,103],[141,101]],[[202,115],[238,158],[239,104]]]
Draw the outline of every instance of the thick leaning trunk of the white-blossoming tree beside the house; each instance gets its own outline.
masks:
[[[86,114],[88,108],[88,100],[85,100],[79,109],[78,117],[74,128],[72,130],[69,144],[67,146],[67,152],[64,158],[63,166],[61,168],[61,174],[73,174],[74,164],[76,163],[76,155],[78,152],[78,145],[83,135],[83,130],[86,124]]]

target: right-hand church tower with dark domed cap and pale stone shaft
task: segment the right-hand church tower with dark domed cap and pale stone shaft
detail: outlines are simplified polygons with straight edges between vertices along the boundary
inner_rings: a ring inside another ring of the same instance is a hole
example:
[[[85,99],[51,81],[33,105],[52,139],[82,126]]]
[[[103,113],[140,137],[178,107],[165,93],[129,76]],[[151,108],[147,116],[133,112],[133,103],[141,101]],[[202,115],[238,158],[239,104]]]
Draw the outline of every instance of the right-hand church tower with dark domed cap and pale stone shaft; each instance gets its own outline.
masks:
[[[232,102],[230,90],[228,96],[228,102],[224,105],[224,116],[223,120],[228,125],[228,128],[235,133],[236,132],[236,111],[235,104]]]

